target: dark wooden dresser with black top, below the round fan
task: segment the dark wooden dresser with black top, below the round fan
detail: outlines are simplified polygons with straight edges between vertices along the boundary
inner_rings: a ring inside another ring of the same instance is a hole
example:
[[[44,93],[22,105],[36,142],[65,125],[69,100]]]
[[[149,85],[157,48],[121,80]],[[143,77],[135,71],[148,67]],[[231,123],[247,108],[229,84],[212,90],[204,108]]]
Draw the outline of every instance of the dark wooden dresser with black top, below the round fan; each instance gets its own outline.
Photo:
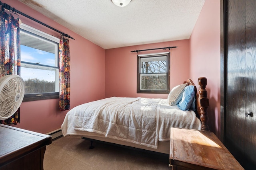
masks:
[[[43,170],[52,137],[0,124],[0,170]]]

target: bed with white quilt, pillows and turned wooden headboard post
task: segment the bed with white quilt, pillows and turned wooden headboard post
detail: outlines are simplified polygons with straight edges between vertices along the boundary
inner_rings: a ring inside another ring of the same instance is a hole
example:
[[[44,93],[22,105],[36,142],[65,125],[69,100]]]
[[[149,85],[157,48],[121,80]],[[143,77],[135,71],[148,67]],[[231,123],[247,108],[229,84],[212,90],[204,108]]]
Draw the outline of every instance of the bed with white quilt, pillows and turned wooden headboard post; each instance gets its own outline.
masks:
[[[209,130],[207,79],[174,87],[167,99],[111,97],[74,107],[62,123],[63,136],[169,154],[170,128]]]

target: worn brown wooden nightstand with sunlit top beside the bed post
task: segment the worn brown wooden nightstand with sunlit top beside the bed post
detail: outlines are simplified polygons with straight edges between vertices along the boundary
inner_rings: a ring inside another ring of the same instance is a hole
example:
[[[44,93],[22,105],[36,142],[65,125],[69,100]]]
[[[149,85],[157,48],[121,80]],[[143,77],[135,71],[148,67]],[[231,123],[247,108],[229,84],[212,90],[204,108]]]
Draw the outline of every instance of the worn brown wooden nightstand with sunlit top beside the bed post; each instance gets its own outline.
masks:
[[[171,128],[170,167],[173,170],[243,170],[210,131]]]

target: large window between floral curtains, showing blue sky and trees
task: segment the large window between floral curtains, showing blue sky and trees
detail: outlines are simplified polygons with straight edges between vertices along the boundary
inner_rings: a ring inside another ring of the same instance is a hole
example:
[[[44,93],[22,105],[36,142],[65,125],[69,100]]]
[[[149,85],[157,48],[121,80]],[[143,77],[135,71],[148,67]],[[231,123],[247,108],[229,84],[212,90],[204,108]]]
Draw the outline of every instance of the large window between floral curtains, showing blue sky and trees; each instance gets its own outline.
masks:
[[[22,24],[20,76],[25,83],[23,101],[59,97],[59,39]]]

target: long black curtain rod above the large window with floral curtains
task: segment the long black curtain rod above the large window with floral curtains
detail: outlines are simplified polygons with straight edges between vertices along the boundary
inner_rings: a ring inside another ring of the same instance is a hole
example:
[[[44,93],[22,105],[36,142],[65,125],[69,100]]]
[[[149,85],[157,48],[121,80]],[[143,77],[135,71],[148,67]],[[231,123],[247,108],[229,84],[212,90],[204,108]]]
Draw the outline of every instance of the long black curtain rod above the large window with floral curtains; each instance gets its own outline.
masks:
[[[46,26],[46,27],[48,27],[48,28],[50,28],[50,29],[52,29],[52,30],[58,32],[58,33],[60,33],[61,35],[64,35],[65,37],[74,39],[74,38],[71,37],[70,35],[65,34],[65,33],[59,31],[58,29],[55,29],[55,28],[53,28],[53,27],[51,27],[51,26],[49,26],[49,25],[46,25],[45,23],[43,23],[43,22],[41,22],[41,21],[38,21],[38,20],[36,20],[35,18],[32,18],[31,16],[28,16],[27,14],[24,14],[23,12],[20,12],[20,11],[16,10],[15,8],[12,8],[12,7],[11,7],[10,5],[8,5],[8,4],[2,3],[2,2],[0,1],[0,5],[2,6],[2,10],[4,10],[4,9],[9,10],[9,11],[12,10],[12,12],[19,13],[20,15],[25,16],[26,18],[29,18],[30,20],[36,21],[36,22],[38,22],[38,23],[40,23],[40,24],[42,24],[42,25],[44,25],[44,26]]]

